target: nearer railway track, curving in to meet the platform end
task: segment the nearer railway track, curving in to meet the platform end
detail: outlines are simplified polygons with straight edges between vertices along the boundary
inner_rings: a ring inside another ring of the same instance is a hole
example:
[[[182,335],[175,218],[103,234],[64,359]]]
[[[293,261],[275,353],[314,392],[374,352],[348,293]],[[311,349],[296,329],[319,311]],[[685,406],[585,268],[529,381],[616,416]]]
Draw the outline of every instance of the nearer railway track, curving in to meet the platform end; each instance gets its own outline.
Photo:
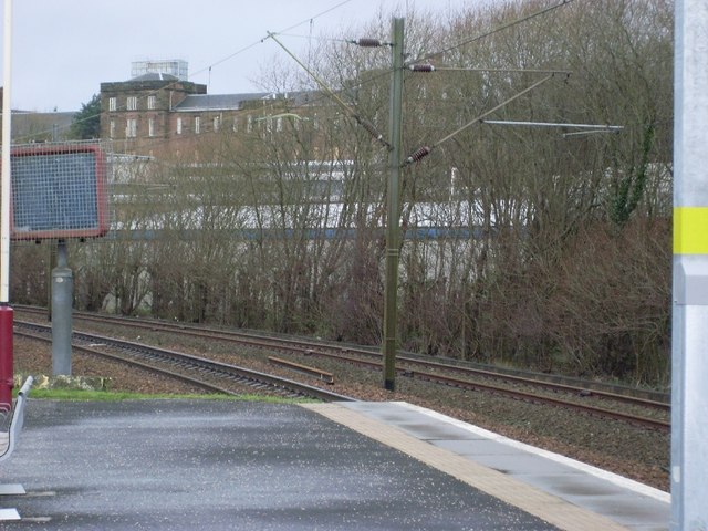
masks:
[[[48,325],[23,321],[15,321],[14,324],[17,335],[51,342],[51,327]],[[250,387],[287,397],[309,397],[325,402],[354,399],[293,379],[143,343],[86,332],[74,332],[72,348],[75,351],[179,379],[210,393],[240,395],[244,387]]]

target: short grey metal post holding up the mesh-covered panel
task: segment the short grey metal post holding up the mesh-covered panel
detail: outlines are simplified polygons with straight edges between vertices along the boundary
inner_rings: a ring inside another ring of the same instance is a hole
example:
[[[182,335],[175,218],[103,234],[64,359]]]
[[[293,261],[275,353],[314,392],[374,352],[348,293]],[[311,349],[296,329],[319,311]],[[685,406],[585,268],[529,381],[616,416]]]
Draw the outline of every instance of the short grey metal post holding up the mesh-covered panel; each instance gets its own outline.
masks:
[[[56,243],[52,270],[52,374],[71,375],[71,331],[74,279],[66,259],[66,242]]]

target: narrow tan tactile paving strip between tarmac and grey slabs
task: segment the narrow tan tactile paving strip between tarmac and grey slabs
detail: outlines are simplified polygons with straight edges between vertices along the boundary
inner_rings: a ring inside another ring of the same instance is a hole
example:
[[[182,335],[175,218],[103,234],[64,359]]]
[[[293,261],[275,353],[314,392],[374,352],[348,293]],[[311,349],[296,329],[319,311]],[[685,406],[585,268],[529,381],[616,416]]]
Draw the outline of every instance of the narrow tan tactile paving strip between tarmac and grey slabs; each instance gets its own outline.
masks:
[[[510,478],[405,431],[374,420],[339,404],[303,404],[330,420],[436,468],[454,478],[533,514],[563,531],[627,531],[601,514],[569,503],[530,485]]]

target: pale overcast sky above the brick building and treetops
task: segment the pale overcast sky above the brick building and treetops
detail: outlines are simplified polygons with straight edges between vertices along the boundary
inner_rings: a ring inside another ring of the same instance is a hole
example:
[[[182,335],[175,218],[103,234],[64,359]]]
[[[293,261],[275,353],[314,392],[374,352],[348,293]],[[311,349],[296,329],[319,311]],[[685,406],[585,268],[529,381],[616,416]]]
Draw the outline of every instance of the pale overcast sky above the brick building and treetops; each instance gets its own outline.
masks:
[[[210,94],[259,91],[252,81],[259,64],[284,53],[272,41],[261,43],[268,31],[331,34],[373,20],[379,10],[397,17],[412,8],[446,13],[478,1],[14,0],[12,108],[77,111],[102,82],[128,80],[133,61],[155,59],[188,61],[190,81],[208,84]],[[282,40],[301,53],[309,42]]]

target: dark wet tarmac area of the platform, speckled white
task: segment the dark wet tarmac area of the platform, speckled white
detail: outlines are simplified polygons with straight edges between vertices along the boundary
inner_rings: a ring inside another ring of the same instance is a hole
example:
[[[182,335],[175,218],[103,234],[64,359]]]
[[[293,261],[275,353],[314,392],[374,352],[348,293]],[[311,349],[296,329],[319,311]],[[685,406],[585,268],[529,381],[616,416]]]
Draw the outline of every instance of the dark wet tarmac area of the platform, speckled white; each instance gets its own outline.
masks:
[[[30,400],[0,481],[8,530],[555,529],[295,405]]]

